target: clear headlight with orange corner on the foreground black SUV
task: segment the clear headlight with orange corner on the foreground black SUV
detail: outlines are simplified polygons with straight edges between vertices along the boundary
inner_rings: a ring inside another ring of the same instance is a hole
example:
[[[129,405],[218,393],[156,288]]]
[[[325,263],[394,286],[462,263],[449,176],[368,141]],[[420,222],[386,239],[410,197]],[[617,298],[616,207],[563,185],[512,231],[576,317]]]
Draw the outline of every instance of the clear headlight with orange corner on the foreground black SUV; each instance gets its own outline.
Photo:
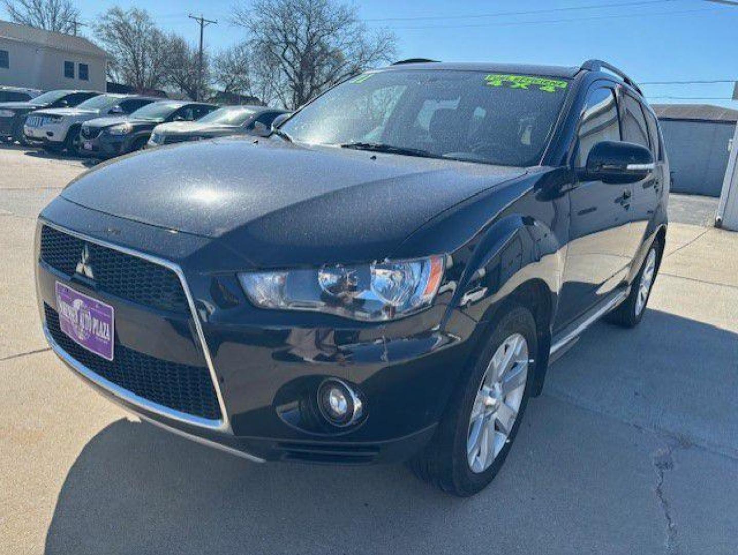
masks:
[[[359,266],[239,274],[260,308],[320,311],[379,322],[427,308],[444,275],[443,255]]]

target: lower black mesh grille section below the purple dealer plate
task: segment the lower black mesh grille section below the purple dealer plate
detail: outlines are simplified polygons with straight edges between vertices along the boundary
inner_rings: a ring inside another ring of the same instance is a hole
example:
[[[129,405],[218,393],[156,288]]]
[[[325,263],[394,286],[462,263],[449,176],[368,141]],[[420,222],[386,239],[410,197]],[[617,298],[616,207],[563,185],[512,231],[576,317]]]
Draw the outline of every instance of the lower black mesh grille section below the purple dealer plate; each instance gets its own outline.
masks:
[[[213,380],[205,365],[189,366],[139,353],[115,343],[113,361],[92,354],[67,337],[57,312],[44,303],[46,327],[66,354],[119,387],[156,404],[209,420],[221,418]]]

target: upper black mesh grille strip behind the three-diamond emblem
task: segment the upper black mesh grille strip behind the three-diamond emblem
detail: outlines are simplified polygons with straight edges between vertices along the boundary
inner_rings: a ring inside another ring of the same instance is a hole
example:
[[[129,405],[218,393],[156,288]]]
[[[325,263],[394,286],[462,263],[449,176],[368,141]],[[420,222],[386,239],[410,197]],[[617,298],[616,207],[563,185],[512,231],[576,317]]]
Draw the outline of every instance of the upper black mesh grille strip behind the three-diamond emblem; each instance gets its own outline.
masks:
[[[41,229],[41,260],[67,276],[75,274],[84,249],[97,289],[143,306],[184,314],[188,311],[182,283],[172,270],[127,255],[53,227]]]

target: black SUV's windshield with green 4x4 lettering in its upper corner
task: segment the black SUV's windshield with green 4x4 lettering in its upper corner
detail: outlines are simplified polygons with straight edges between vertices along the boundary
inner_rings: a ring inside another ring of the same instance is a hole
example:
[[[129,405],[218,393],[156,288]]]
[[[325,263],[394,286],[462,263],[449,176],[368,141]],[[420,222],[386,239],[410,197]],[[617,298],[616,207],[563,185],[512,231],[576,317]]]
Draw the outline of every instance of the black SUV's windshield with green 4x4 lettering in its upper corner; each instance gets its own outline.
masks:
[[[449,70],[369,72],[281,127],[292,140],[489,164],[537,165],[568,80]]]

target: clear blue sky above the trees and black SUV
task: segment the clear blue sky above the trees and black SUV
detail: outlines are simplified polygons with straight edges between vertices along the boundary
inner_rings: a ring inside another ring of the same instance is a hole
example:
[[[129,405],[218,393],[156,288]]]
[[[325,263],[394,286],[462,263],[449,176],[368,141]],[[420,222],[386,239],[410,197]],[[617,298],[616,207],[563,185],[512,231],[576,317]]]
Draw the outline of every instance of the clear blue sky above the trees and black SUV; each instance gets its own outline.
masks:
[[[244,32],[229,22],[238,1],[77,0],[76,4],[87,22],[114,5],[145,7],[161,27],[193,42],[197,25],[187,13],[203,13],[219,21],[205,32],[206,43],[217,50],[244,38]],[[622,5],[578,9],[603,4]],[[565,65],[603,58],[640,82],[738,79],[738,5],[706,0],[365,0],[356,6],[369,27],[396,32],[399,58]],[[517,14],[490,15],[501,12]],[[738,101],[731,100],[655,98],[731,97],[731,84],[644,86],[644,90],[652,102],[738,108]]]

